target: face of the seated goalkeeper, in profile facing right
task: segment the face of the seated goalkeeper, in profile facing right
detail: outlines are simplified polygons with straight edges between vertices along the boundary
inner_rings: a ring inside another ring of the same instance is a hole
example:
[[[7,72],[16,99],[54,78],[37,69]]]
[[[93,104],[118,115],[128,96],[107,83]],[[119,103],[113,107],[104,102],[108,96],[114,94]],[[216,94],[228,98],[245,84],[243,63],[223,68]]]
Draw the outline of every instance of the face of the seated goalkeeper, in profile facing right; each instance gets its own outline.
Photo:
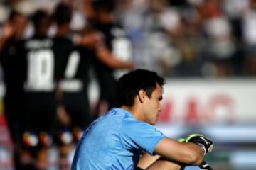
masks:
[[[151,94],[149,98],[146,96],[144,102],[144,118],[145,122],[151,125],[155,125],[161,112],[160,101],[162,100],[163,91],[159,84],[156,84],[156,89]]]

